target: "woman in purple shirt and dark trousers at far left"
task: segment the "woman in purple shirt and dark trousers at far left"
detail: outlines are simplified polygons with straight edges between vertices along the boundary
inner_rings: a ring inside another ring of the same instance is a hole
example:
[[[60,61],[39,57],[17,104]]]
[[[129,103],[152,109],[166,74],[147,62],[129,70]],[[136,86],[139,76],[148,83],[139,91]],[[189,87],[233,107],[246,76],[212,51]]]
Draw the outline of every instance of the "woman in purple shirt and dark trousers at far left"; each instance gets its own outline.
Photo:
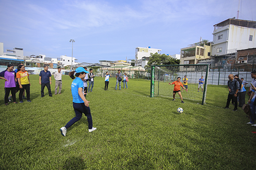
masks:
[[[8,64],[7,69],[0,73],[0,79],[5,80],[5,105],[8,105],[8,96],[11,91],[14,103],[16,102],[16,73],[13,71],[14,65]]]

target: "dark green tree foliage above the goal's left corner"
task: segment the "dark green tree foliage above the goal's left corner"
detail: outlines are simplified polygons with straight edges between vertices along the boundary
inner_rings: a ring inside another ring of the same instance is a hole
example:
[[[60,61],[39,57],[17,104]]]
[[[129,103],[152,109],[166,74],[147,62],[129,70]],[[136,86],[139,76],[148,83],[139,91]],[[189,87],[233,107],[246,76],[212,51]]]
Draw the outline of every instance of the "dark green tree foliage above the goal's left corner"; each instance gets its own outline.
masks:
[[[174,59],[171,56],[165,54],[150,54],[149,60],[145,69],[149,69],[152,65],[171,65],[171,64],[180,64],[179,59]]]

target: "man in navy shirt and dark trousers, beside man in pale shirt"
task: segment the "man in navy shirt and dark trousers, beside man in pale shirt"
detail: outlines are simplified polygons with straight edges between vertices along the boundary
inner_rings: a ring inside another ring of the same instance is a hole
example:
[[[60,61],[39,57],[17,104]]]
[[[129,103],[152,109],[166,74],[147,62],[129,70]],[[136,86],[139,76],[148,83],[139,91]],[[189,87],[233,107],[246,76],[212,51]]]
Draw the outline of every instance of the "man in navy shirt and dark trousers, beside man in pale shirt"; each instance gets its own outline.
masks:
[[[39,84],[41,85],[41,97],[44,97],[44,87],[46,86],[48,88],[48,93],[49,96],[52,97],[52,91],[51,91],[51,84],[52,84],[52,79],[51,79],[51,72],[48,71],[48,66],[43,67],[44,70],[40,71],[39,74]]]

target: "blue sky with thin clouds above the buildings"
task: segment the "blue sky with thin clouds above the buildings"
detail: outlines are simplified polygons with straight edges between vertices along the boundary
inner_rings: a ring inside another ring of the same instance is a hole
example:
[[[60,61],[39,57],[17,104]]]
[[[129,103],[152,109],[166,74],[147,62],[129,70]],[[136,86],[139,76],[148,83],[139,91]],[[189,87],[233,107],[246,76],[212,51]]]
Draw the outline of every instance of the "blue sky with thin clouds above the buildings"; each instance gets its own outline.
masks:
[[[239,7],[239,8],[238,8]],[[77,62],[135,59],[136,47],[180,54],[213,41],[214,24],[256,20],[255,0],[0,0],[0,42],[24,55],[72,56]],[[254,11],[254,12],[253,12]]]

